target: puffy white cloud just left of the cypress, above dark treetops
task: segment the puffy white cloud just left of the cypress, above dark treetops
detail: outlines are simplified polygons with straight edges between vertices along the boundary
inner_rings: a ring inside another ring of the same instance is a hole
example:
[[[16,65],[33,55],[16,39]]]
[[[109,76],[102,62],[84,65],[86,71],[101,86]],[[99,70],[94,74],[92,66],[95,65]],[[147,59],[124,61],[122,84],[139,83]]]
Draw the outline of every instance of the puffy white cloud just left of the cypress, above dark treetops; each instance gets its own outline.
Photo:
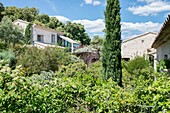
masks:
[[[85,29],[89,33],[99,33],[104,30],[105,24],[103,19],[97,19],[97,20],[73,20],[72,22],[75,23],[81,23],[84,25]]]

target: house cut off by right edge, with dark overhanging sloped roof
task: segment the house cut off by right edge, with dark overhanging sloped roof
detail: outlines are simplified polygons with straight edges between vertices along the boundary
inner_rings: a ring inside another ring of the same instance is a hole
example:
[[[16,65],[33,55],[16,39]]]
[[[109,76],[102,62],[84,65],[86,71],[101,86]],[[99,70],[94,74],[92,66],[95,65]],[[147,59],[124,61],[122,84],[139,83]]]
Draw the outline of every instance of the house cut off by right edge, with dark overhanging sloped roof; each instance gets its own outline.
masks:
[[[170,15],[168,15],[168,18],[165,20],[152,47],[157,51],[155,62],[170,59]]]

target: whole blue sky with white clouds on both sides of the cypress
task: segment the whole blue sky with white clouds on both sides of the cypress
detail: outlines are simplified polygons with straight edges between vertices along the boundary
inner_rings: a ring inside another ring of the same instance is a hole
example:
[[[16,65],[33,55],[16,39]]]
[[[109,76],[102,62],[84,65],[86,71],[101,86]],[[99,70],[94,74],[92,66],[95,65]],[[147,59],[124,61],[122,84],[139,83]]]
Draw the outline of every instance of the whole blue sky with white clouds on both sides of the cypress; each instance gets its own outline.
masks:
[[[103,36],[106,0],[0,0],[4,6],[36,7],[41,14],[85,26],[87,33]],[[120,0],[122,39],[158,32],[168,14],[170,0]]]

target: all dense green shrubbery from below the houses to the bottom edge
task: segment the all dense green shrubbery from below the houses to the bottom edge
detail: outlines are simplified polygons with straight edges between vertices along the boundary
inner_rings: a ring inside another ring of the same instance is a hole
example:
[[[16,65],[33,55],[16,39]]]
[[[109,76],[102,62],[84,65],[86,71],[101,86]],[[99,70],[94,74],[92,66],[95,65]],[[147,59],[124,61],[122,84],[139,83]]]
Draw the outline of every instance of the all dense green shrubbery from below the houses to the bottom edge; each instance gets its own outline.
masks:
[[[6,55],[8,60],[1,57],[0,112],[170,111],[170,76],[154,72],[143,58],[122,62],[123,87],[119,87],[112,79],[102,80],[100,61],[87,67],[65,50],[50,49],[13,48],[12,67],[11,55]],[[42,68],[45,64],[51,66]]]

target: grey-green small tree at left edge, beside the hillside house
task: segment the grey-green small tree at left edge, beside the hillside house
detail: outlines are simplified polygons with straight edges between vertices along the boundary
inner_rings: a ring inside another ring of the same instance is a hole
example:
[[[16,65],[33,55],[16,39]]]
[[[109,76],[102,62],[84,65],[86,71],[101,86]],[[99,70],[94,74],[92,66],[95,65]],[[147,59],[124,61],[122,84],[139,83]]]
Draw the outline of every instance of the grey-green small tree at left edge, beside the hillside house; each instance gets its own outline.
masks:
[[[15,46],[16,43],[20,43],[24,38],[21,29],[5,16],[0,22],[0,39],[8,46],[9,44]]]

